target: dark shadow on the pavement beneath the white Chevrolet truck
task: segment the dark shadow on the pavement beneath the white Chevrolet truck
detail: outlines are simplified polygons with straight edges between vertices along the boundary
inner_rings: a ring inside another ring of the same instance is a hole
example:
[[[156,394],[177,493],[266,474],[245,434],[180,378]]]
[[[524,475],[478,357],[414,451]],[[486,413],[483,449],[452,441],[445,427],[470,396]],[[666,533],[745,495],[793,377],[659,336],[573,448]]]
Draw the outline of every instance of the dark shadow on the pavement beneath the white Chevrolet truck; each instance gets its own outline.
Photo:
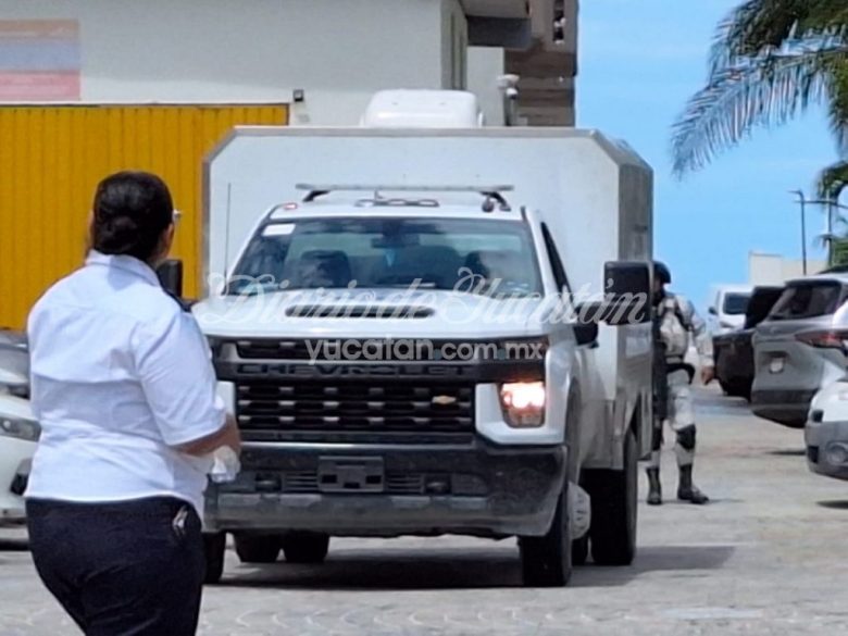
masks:
[[[652,572],[690,573],[721,568],[734,553],[732,546],[673,546],[640,548],[628,568],[588,564],[576,568],[572,587],[618,587]],[[350,551],[332,554],[323,565],[242,565],[225,575],[219,587],[286,587],[297,589],[427,590],[522,587],[516,549],[438,552]]]

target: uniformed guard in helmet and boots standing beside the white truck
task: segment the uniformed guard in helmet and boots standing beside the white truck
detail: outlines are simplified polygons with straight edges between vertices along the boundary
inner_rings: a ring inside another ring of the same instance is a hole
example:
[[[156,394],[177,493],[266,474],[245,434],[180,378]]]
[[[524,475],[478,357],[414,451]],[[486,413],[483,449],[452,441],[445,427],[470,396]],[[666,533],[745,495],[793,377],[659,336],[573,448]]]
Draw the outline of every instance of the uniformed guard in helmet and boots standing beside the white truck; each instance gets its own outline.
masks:
[[[679,471],[677,499],[691,503],[707,503],[709,498],[693,483],[693,464],[695,462],[695,408],[689,385],[695,377],[695,369],[686,363],[685,357],[689,349],[691,337],[701,358],[701,381],[710,384],[714,377],[712,338],[707,331],[707,323],[695,311],[695,307],[682,296],[665,289],[671,284],[671,272],[665,264],[657,262],[653,266],[653,308],[654,320],[660,341],[657,347],[664,354],[665,378],[656,382],[666,389],[660,396],[664,401],[663,416],[654,422],[657,435],[648,467],[648,503],[662,503],[660,484],[660,450],[662,447],[662,428],[668,421],[676,435],[674,447]],[[664,383],[662,381],[665,381]]]

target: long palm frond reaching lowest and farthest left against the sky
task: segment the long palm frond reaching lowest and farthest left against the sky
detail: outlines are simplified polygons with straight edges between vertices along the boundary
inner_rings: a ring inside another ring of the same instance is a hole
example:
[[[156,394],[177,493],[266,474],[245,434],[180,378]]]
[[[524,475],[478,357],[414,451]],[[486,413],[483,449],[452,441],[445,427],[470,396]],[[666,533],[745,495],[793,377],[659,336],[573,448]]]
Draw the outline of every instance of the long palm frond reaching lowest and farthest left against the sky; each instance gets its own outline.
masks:
[[[678,176],[702,167],[756,126],[782,124],[830,95],[834,64],[848,60],[839,38],[791,42],[716,72],[673,126]]]

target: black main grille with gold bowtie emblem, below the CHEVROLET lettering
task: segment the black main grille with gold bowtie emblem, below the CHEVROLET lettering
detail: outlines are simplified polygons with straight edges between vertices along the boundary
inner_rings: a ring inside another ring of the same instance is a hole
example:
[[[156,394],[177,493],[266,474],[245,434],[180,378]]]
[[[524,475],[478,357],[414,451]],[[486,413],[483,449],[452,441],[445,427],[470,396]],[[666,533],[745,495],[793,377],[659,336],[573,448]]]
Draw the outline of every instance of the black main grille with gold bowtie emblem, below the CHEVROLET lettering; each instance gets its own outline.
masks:
[[[436,442],[474,433],[469,384],[249,383],[236,398],[239,426],[257,441]]]

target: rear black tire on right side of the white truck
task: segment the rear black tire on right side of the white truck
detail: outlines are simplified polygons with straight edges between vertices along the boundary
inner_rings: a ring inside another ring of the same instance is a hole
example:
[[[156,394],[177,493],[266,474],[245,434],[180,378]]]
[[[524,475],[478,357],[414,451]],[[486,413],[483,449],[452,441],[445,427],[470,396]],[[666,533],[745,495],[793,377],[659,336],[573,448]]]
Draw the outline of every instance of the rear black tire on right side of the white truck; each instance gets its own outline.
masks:
[[[636,557],[638,454],[636,436],[624,438],[623,471],[586,471],[591,497],[591,559],[598,565],[629,565]]]

